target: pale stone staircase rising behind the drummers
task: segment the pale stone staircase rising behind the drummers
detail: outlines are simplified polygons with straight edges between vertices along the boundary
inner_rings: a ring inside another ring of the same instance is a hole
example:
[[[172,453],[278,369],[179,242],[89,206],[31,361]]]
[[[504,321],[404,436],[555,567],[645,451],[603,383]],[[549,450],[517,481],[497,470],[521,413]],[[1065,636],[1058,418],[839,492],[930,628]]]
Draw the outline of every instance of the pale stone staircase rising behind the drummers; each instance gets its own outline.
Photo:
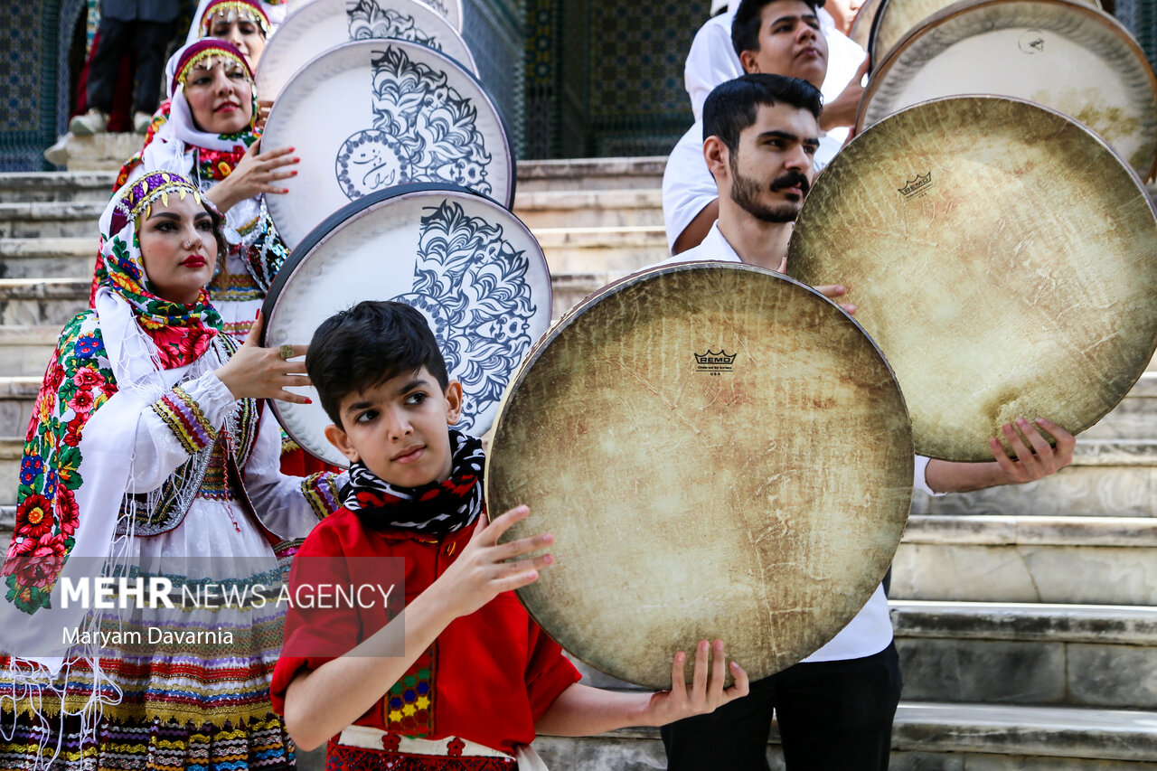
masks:
[[[525,162],[516,213],[560,315],[666,252],[662,159]],[[88,296],[110,171],[0,175],[0,542],[22,436],[61,324]],[[1157,366],[1016,489],[918,494],[897,555],[901,771],[1157,770]],[[589,682],[631,689],[589,671]],[[769,757],[782,768],[773,729]],[[555,771],[661,769],[658,733],[543,736]],[[318,764],[316,754],[302,765]]]

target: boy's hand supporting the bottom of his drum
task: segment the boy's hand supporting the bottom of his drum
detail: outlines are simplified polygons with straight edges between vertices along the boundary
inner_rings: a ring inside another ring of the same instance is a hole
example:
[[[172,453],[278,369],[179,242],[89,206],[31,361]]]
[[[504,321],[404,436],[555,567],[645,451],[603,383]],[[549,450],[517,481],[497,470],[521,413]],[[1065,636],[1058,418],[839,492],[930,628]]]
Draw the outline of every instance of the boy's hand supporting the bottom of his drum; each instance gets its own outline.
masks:
[[[725,663],[723,640],[715,640],[714,645],[708,645],[707,640],[699,641],[690,688],[685,680],[686,660],[687,656],[683,651],[675,654],[675,662],[671,666],[671,690],[651,696],[647,710],[651,718],[650,725],[665,726],[697,714],[708,714],[728,702],[747,695],[750,689],[747,673],[735,661]],[[735,683],[731,688],[723,688],[728,669]]]

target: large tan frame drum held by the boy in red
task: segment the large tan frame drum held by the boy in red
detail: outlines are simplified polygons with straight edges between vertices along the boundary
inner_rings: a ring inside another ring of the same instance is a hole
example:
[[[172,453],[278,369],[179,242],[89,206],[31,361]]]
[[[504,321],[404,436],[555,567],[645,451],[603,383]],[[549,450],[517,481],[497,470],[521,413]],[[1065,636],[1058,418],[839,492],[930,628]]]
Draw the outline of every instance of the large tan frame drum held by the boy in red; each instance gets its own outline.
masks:
[[[817,292],[662,266],[536,345],[495,419],[487,511],[530,507],[503,539],[554,534],[518,597],[582,661],[670,688],[676,652],[722,639],[754,680],[831,640],[884,577],[909,431],[887,362]]]

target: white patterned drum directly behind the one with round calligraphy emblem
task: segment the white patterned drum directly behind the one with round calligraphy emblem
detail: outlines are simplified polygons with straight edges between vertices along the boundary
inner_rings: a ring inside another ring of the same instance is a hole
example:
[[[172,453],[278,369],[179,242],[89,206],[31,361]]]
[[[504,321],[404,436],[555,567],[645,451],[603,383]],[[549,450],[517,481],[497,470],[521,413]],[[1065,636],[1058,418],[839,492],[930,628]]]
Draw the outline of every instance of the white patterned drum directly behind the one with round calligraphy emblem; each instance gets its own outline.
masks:
[[[257,94],[277,100],[297,68],[349,41],[395,38],[441,51],[474,75],[478,67],[458,30],[419,0],[312,0],[270,37],[255,75]]]

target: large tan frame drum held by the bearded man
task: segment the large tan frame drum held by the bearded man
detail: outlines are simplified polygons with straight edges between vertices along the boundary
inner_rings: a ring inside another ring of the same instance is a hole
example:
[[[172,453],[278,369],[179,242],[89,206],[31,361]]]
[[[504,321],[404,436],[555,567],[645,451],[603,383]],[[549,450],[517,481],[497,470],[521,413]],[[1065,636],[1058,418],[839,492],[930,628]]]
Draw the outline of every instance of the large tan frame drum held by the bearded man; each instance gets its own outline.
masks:
[[[1157,342],[1144,189],[1089,128],[1019,100],[935,100],[868,128],[816,179],[788,273],[848,287],[936,458],[990,461],[1016,418],[1088,428]]]

